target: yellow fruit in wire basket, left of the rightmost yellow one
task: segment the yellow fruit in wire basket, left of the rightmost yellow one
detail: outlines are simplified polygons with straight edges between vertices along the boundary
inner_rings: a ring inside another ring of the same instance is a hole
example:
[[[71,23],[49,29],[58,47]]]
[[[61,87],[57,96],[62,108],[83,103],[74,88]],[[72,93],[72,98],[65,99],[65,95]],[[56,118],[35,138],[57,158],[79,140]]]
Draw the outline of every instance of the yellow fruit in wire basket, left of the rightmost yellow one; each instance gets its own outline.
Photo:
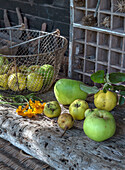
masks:
[[[13,73],[8,77],[8,87],[13,91],[22,91],[26,88],[26,77],[22,73]]]

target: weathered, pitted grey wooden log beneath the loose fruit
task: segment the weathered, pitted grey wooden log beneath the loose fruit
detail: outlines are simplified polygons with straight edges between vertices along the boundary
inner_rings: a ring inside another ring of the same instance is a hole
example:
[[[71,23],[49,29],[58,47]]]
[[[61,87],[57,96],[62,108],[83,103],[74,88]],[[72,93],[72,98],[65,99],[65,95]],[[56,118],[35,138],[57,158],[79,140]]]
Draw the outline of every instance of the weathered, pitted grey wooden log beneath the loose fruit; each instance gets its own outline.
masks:
[[[54,121],[42,116],[39,120],[22,118],[15,109],[1,106],[0,137],[59,170],[122,170],[125,169],[125,109],[112,113],[116,133],[99,143],[84,134],[83,121],[76,122],[61,138],[63,130]]]

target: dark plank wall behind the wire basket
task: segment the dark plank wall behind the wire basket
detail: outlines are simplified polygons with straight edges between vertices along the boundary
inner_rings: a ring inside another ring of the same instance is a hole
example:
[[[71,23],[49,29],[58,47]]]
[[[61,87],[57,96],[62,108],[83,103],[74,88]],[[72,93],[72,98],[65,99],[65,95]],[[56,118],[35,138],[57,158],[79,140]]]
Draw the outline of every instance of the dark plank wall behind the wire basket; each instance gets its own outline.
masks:
[[[0,27],[4,27],[3,10],[8,10],[12,25],[18,24],[16,7],[26,16],[30,29],[41,29],[47,23],[47,31],[60,29],[61,35],[69,37],[69,0],[0,0]]]

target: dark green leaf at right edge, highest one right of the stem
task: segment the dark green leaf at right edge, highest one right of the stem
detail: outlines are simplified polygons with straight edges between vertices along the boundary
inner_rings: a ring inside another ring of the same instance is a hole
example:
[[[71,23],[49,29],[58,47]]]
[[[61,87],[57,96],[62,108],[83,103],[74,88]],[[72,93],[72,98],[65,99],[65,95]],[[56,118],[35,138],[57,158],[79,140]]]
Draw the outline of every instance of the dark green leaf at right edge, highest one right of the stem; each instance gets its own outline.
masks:
[[[110,73],[109,80],[111,83],[120,83],[125,81],[125,73]]]

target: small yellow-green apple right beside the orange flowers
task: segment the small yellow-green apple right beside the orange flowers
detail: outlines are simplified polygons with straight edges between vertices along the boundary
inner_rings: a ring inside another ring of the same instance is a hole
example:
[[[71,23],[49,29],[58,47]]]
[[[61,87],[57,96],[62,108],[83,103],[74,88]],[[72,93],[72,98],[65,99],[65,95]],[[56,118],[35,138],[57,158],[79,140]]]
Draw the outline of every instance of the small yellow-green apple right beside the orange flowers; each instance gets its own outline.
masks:
[[[58,117],[61,113],[61,107],[57,101],[50,101],[44,106],[44,114],[49,117]]]

